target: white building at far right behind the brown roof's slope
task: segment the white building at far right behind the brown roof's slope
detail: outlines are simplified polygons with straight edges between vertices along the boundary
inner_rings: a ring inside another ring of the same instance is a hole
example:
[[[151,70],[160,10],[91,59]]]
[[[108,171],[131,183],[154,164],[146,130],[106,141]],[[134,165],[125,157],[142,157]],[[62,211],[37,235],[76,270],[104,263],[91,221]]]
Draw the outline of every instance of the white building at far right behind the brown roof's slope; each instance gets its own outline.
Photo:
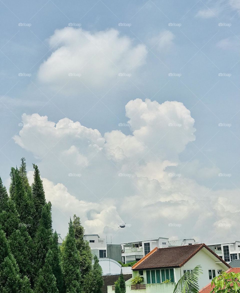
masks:
[[[220,258],[230,263],[232,260],[240,259],[240,241],[225,241],[210,243],[207,246]]]

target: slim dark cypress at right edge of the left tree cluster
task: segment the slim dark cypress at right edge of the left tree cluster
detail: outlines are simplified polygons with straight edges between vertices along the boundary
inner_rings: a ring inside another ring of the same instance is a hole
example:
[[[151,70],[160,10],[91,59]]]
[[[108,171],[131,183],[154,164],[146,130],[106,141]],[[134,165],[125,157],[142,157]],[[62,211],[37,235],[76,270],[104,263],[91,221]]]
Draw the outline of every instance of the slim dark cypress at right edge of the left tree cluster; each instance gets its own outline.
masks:
[[[53,233],[53,238],[52,238],[52,243],[51,243],[51,251],[52,251],[52,263],[51,263],[51,268],[53,271],[53,275],[56,278],[56,284],[59,293],[64,292],[64,286],[63,286],[63,273],[61,269],[61,251],[58,246],[58,234],[55,231]]]

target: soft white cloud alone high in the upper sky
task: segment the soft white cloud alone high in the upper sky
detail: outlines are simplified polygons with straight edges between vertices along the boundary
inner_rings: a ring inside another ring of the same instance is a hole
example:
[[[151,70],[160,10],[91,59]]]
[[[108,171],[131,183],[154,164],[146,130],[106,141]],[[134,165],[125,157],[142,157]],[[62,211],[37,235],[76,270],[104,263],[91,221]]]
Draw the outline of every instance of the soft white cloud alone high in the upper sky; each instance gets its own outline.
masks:
[[[38,78],[51,85],[91,87],[110,86],[119,73],[131,73],[145,61],[146,47],[134,45],[119,31],[109,29],[91,33],[82,28],[56,30],[49,38],[53,48],[50,57],[40,66]]]

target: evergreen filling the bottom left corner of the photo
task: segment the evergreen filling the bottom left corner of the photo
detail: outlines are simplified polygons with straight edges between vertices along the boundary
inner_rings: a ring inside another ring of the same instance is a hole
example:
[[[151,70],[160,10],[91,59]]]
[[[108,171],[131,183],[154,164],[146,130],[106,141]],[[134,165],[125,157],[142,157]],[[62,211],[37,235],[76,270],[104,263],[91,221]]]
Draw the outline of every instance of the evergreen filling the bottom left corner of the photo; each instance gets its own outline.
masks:
[[[9,251],[2,229],[0,229],[0,292],[32,293],[27,277],[20,277],[18,265]]]

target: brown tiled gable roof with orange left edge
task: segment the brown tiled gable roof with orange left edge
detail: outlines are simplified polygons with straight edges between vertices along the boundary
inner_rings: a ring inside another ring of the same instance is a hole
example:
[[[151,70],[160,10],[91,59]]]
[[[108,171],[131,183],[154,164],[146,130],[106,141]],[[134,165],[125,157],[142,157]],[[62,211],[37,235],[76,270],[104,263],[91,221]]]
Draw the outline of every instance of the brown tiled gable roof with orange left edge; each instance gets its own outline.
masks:
[[[176,268],[184,265],[190,258],[192,258],[202,248],[206,248],[218,260],[224,263],[228,268],[230,266],[214,253],[204,243],[185,245],[185,246],[172,246],[166,248],[154,248],[147,255],[139,260],[132,266],[132,270],[146,270],[151,268]]]

